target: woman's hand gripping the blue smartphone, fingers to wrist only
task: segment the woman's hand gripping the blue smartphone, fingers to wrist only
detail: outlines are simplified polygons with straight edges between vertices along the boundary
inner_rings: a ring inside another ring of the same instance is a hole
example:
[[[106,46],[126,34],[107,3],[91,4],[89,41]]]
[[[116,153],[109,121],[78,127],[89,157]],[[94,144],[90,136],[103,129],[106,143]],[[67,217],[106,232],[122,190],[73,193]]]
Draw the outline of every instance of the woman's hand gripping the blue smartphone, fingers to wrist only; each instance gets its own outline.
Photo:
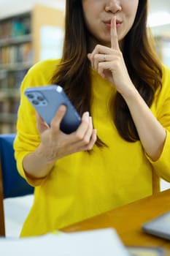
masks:
[[[41,138],[43,151],[46,153],[48,162],[55,162],[61,157],[78,151],[91,150],[96,143],[96,129],[88,112],[82,115],[80,127],[70,135],[63,133],[60,124],[66,113],[66,106],[61,105],[53,118],[50,127],[37,114],[37,128]]]

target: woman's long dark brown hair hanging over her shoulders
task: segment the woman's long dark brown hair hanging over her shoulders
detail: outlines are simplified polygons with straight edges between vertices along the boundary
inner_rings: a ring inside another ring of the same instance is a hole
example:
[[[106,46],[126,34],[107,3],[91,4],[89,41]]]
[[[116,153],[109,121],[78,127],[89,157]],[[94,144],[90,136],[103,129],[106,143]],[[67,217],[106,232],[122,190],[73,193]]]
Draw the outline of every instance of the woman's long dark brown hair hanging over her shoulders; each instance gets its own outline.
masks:
[[[82,1],[66,0],[65,39],[61,64],[52,82],[63,86],[80,115],[90,112],[92,100],[88,30],[82,12]],[[161,87],[162,70],[147,34],[147,0],[139,0],[134,25],[126,35],[123,57],[131,80],[150,107],[155,91]],[[117,93],[110,110],[120,136],[129,142],[139,140],[134,121],[123,97]],[[97,146],[105,145],[99,138]]]

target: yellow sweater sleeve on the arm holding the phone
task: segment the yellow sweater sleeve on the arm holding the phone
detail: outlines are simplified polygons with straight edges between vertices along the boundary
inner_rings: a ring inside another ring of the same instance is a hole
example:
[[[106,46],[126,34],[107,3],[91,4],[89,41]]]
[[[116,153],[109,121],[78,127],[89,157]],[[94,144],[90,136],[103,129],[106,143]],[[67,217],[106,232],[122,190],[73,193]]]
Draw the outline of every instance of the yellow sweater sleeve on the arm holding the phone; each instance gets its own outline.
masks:
[[[15,159],[17,160],[20,176],[26,178],[32,186],[39,186],[44,179],[30,179],[23,170],[23,158],[34,151],[40,143],[39,132],[36,129],[35,110],[30,102],[28,102],[28,99],[26,99],[24,91],[28,87],[49,85],[57,64],[58,60],[55,59],[41,61],[35,64],[28,70],[20,86],[20,107],[18,109],[17,122],[18,134],[14,142]]]

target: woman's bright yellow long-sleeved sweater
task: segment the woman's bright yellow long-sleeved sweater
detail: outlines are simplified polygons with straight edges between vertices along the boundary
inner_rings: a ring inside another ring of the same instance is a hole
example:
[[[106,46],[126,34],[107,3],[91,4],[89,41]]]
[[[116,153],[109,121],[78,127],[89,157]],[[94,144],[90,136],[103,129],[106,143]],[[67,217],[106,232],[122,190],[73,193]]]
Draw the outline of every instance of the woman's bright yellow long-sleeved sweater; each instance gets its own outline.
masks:
[[[39,145],[34,108],[23,95],[31,86],[50,84],[58,61],[39,62],[32,67],[21,86],[18,111],[18,136],[15,158],[23,171],[23,157]],[[111,121],[109,98],[114,86],[91,70],[93,80],[92,116],[99,138],[108,148],[93,147],[93,153],[79,152],[55,162],[43,180],[28,180],[35,187],[34,204],[23,225],[21,236],[35,236],[66,227],[112,208],[123,206],[158,191],[158,177],[170,181],[170,71],[163,67],[163,87],[152,104],[152,113],[167,131],[160,159],[152,162],[141,143],[120,138]],[[154,171],[155,170],[155,171]],[[154,182],[152,182],[154,180]]]

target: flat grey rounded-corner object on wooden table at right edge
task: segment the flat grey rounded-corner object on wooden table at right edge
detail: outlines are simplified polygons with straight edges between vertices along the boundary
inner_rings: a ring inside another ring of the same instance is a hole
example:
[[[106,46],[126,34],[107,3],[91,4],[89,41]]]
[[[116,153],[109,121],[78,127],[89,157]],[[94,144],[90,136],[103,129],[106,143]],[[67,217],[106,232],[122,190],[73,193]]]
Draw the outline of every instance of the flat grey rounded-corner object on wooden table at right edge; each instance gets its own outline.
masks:
[[[159,236],[170,240],[170,211],[165,214],[161,214],[155,219],[151,219],[150,222],[142,225],[142,230],[153,236]]]

